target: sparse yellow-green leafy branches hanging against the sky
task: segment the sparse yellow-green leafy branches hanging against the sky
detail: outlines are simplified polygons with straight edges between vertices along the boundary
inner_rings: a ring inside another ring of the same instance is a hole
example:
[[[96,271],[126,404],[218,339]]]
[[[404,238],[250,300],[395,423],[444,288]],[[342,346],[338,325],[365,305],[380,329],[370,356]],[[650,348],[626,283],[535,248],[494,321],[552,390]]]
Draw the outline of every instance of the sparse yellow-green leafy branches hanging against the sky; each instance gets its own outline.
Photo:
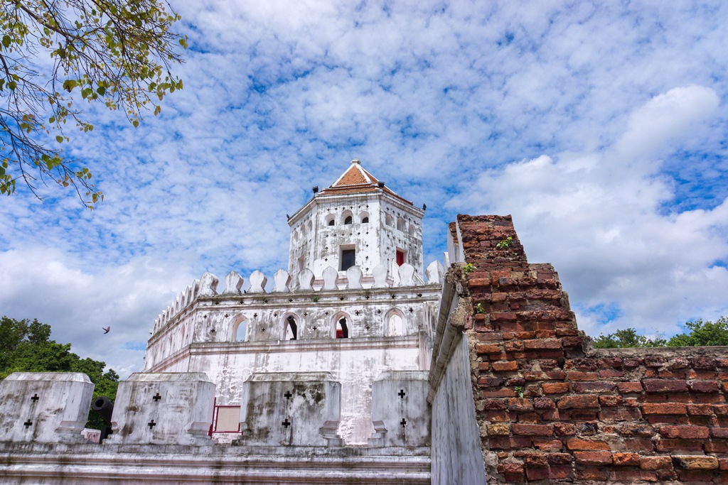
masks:
[[[22,180],[73,186],[93,208],[103,193],[63,153],[68,125],[89,132],[79,106],[104,103],[137,127],[182,89],[170,73],[186,37],[160,0],[7,0],[0,4],[0,193]]]

